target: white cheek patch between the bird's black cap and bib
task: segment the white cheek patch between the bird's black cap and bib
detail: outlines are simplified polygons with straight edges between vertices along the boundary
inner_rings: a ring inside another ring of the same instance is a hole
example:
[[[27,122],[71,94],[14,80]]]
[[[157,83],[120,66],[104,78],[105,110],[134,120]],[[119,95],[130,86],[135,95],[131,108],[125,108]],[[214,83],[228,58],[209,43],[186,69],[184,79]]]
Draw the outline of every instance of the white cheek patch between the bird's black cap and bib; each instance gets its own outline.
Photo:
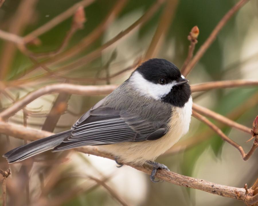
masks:
[[[164,85],[154,84],[153,82],[144,79],[144,77],[137,71],[132,74],[130,81],[136,91],[140,92],[142,96],[149,96],[157,100],[166,96],[176,84],[175,82]]]

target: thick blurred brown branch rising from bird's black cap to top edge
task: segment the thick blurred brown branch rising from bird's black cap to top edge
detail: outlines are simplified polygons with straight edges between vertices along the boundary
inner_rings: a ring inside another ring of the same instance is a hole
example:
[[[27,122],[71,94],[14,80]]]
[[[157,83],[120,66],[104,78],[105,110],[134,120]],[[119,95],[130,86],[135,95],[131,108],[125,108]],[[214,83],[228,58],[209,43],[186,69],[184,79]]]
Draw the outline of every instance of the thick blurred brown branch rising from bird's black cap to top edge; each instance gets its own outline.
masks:
[[[178,0],[167,1],[163,13],[160,17],[159,24],[157,26],[155,34],[153,35],[150,45],[146,51],[144,60],[153,58],[158,54],[159,49],[165,39],[166,33],[169,29],[169,26],[171,26],[171,22],[175,14],[175,10],[177,8],[177,3]]]

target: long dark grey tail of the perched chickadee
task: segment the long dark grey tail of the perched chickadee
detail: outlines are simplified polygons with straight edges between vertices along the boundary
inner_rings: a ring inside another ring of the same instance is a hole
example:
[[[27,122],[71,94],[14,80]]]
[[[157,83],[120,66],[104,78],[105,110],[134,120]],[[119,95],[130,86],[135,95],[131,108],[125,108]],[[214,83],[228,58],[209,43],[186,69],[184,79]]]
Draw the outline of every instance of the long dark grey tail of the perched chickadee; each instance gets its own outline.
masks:
[[[23,146],[19,146],[3,155],[8,163],[18,162],[41,152],[53,149],[55,146],[61,144],[64,138],[71,135],[72,130],[67,130],[58,134],[54,134],[36,141],[30,142]]]

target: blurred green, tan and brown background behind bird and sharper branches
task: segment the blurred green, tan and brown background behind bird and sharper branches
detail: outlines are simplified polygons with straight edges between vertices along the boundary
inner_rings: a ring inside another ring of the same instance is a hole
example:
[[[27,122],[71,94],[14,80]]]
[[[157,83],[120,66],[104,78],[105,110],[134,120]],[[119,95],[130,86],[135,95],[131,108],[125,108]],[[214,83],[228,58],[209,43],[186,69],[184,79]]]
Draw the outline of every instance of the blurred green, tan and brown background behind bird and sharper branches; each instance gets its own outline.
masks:
[[[197,51],[237,1],[88,0],[78,5],[77,2],[5,0],[1,5],[0,29],[26,37],[27,43],[17,49],[14,43],[0,39],[0,79],[7,86],[1,89],[1,110],[28,92],[52,83],[121,84],[144,55],[165,58],[181,68],[191,28],[197,25],[200,29]],[[85,7],[78,10],[80,5]],[[72,14],[35,34],[37,28],[67,10]],[[258,2],[251,0],[226,23],[187,77],[190,83],[258,80],[257,33]],[[35,35],[37,38],[32,38]],[[157,36],[161,41],[155,39]],[[153,43],[158,46],[149,54]],[[21,110],[8,122],[61,132],[103,97],[42,96],[26,107],[27,112]],[[255,87],[198,92],[193,99],[248,127],[257,116]],[[253,142],[245,142],[251,136],[214,123],[249,151]],[[4,134],[0,137],[1,154],[26,143]],[[157,161],[173,172],[232,187],[244,187],[245,183],[251,186],[258,174],[257,151],[243,161],[235,148],[194,118],[189,133]],[[153,184],[148,175],[129,166],[117,168],[112,160],[75,151],[45,152],[12,165],[1,157],[0,168],[9,167],[7,205],[120,205],[117,198],[127,205],[142,206],[244,205],[235,199],[166,182]],[[105,184],[115,195],[103,187]]]

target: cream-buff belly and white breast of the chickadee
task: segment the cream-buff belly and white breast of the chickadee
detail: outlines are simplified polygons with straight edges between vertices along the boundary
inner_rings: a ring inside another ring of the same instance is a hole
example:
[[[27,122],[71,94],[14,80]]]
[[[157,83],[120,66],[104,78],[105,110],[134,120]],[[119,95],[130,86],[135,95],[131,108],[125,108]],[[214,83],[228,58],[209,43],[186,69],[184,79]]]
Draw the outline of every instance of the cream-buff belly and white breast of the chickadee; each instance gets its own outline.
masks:
[[[187,133],[191,120],[191,108],[191,98],[183,108],[172,108],[173,118],[169,122],[169,131],[157,140],[123,142],[98,147],[118,157],[118,161],[120,159],[124,163],[143,165],[147,160],[155,160]]]

